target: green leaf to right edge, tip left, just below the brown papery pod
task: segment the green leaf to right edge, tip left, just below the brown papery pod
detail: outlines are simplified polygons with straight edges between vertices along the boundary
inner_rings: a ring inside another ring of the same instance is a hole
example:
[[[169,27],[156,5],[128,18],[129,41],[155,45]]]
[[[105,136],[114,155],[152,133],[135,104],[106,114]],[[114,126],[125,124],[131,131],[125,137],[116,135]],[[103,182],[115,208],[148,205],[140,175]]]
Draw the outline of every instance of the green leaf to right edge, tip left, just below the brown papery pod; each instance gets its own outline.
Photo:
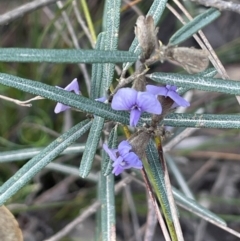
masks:
[[[199,75],[185,75],[172,73],[152,73],[148,78],[168,85],[181,86],[188,89],[198,89],[212,92],[222,92],[240,95],[240,82],[217,78],[202,77]]]

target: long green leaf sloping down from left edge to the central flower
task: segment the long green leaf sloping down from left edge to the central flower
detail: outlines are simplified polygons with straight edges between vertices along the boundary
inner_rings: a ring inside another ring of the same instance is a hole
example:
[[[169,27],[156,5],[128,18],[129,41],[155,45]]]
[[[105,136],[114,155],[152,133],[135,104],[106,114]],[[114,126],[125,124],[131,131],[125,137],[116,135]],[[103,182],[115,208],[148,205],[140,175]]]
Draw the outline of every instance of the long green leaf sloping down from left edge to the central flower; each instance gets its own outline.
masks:
[[[34,95],[40,95],[108,120],[125,125],[129,124],[129,114],[126,112],[112,110],[110,105],[90,100],[81,95],[76,95],[41,82],[0,73],[0,84],[11,86]]]

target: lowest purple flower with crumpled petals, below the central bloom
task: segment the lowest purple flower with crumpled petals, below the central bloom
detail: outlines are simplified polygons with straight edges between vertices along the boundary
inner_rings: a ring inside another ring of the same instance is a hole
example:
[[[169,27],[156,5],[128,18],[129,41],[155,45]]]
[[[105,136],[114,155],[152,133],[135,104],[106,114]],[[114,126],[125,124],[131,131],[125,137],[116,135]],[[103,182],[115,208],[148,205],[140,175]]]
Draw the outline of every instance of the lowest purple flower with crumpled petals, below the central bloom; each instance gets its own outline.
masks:
[[[122,141],[118,145],[118,149],[109,149],[106,144],[103,144],[103,149],[113,161],[113,171],[115,176],[118,176],[125,169],[137,168],[142,169],[143,165],[139,157],[132,152],[132,146],[128,141]]]

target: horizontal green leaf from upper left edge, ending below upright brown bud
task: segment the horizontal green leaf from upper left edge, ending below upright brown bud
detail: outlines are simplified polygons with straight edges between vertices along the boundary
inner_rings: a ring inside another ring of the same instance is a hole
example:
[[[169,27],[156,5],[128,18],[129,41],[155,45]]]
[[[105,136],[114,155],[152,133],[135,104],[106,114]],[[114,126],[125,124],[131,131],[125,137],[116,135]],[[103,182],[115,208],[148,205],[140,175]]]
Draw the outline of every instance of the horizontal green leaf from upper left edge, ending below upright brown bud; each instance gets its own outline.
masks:
[[[0,48],[0,62],[123,63],[137,59],[133,53],[117,50]]]

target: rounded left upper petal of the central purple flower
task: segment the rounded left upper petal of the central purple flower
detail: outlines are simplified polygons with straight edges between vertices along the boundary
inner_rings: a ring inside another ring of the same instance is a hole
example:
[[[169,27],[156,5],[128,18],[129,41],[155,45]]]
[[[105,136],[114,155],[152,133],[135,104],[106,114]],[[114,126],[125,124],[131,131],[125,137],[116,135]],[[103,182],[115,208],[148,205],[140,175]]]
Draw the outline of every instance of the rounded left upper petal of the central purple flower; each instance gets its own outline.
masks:
[[[137,91],[131,88],[122,88],[117,91],[112,99],[112,108],[114,110],[131,110],[135,105]]]

